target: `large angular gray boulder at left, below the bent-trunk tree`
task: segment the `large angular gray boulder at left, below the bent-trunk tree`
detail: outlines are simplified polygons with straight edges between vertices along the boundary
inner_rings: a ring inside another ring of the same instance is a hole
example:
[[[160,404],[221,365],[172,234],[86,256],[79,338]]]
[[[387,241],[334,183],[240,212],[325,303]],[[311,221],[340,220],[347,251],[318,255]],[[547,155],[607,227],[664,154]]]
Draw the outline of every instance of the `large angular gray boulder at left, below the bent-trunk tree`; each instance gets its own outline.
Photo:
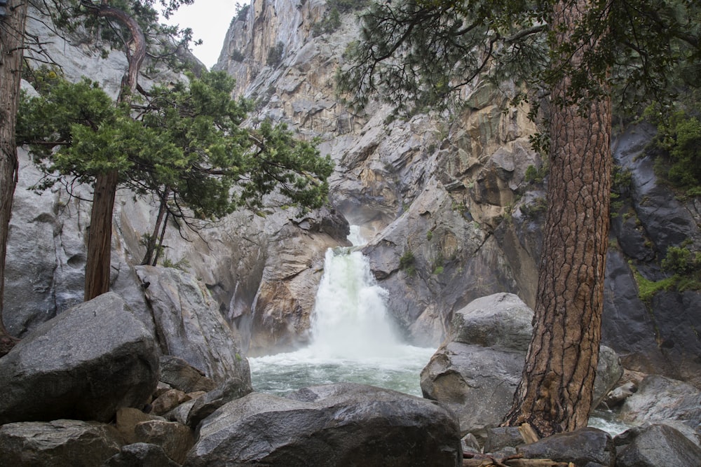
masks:
[[[109,421],[156,389],[153,337],[115,293],[43,323],[0,358],[0,424]]]

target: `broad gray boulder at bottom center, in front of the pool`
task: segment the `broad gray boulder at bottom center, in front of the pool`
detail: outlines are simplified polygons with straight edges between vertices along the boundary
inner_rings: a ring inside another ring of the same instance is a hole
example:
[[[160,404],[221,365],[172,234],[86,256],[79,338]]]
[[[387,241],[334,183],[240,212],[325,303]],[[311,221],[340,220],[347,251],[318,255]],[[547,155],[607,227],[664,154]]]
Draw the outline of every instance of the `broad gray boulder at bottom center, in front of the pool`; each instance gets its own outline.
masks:
[[[362,384],[251,393],[205,419],[187,467],[458,466],[454,415],[440,404]]]

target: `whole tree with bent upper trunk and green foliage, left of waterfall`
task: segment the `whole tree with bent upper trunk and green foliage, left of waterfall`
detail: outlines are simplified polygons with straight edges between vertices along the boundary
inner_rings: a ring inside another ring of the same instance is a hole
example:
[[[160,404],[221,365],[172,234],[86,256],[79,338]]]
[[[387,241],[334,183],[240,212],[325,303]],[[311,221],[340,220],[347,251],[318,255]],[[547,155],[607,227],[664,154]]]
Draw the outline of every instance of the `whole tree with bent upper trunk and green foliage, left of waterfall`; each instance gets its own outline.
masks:
[[[152,177],[149,181],[144,182],[144,177],[140,180],[141,183],[145,183],[147,189],[156,191],[158,198],[163,200],[164,209],[168,206],[166,201],[169,196],[179,196],[180,199],[187,200],[196,212],[199,209],[199,214],[217,216],[278,187],[281,187],[283,193],[292,196],[295,202],[308,206],[318,205],[325,197],[325,177],[330,172],[331,165],[329,160],[318,158],[318,153],[311,145],[294,141],[284,127],[273,127],[269,123],[261,124],[257,132],[248,132],[247,144],[243,144],[243,130],[238,129],[238,124],[245,115],[243,109],[237,109],[236,115],[215,115],[217,112],[232,112],[228,93],[231,92],[233,83],[224,80],[221,75],[215,75],[219,78],[203,78],[191,85],[186,99],[196,102],[196,107],[179,114],[180,134],[175,130],[177,126],[168,125],[175,125],[172,119],[177,112],[174,109],[183,109],[182,102],[177,102],[182,95],[177,97],[175,94],[167,95],[163,90],[157,90],[157,95],[149,101],[147,110],[142,113],[140,123],[135,123],[135,120],[130,118],[130,109],[139,104],[141,99],[137,94],[137,81],[147,54],[144,27],[155,18],[155,12],[151,8],[154,0],[81,0],[63,3],[70,8],[57,14],[58,23],[67,29],[76,29],[73,19],[80,18],[81,15],[83,18],[88,16],[106,21],[106,27],[97,31],[107,39],[121,40],[128,58],[128,70],[123,76],[121,92],[116,103],[121,110],[114,116],[108,116],[104,125],[80,122],[79,126],[72,126],[63,142],[55,139],[56,133],[43,134],[43,137],[48,139],[43,144],[60,143],[64,153],[69,154],[67,165],[57,164],[52,167],[64,174],[81,173],[93,183],[93,211],[90,216],[86,264],[86,300],[109,290],[112,211],[116,189],[120,181],[130,179],[133,171],[141,171],[142,162],[148,157],[163,160],[154,162],[156,170],[147,169]],[[116,6],[112,6],[112,3]],[[161,3],[168,8],[177,8],[180,4],[191,3],[191,0],[163,0]],[[84,83],[84,86],[90,88],[88,83]],[[198,94],[203,86],[208,86],[207,92],[214,94]],[[222,89],[222,86],[229,88]],[[64,88],[58,87],[56,90],[62,92]],[[178,92],[182,93],[183,88],[178,88]],[[51,99],[60,100],[61,97],[54,95]],[[170,111],[164,104],[168,99],[173,101]],[[214,100],[209,102],[207,99]],[[62,102],[69,105],[65,99]],[[222,123],[217,118],[228,120]],[[183,123],[184,120],[188,120],[189,123]],[[27,118],[27,121],[31,119]],[[159,128],[159,121],[165,126]],[[203,136],[209,131],[207,125],[215,125],[217,132],[212,130],[209,135]],[[149,132],[156,136],[147,136]],[[197,136],[193,136],[195,133]],[[184,134],[189,141],[182,139]],[[36,132],[29,131],[26,137],[35,144],[38,143],[35,138]],[[179,140],[169,142],[170,137]],[[154,141],[163,144],[158,148],[147,144]],[[154,152],[147,155],[141,150],[144,147],[152,148]],[[184,154],[186,162],[180,158],[181,154]],[[196,157],[199,159],[195,161]],[[237,157],[244,158],[245,161],[238,161]],[[168,176],[163,167],[177,169],[177,174]],[[231,186],[232,180],[238,180],[240,190],[234,190],[231,197],[222,195],[226,188]],[[215,192],[219,195],[214,195]],[[207,200],[207,203],[213,204],[198,207],[197,203],[200,200]],[[153,248],[151,242],[148,246]]]

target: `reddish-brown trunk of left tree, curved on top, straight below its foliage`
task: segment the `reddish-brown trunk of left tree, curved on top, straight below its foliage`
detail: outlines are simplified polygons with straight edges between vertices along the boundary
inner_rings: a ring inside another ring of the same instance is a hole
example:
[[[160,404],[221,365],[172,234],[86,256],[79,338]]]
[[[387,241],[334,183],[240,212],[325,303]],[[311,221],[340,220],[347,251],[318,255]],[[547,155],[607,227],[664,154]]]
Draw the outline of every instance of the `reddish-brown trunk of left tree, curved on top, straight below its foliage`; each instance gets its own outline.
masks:
[[[132,36],[131,43],[126,48],[129,68],[122,77],[122,87],[117,100],[118,102],[130,102],[136,91],[139,69],[141,69],[141,64],[146,57],[144,33],[134,18],[117,8],[102,4],[99,7],[91,8],[91,11],[99,17],[121,22],[129,29]],[[90,216],[90,232],[88,233],[86,301],[109,291],[112,211],[114,210],[118,179],[117,172],[109,172],[100,174],[95,181],[93,212]]]

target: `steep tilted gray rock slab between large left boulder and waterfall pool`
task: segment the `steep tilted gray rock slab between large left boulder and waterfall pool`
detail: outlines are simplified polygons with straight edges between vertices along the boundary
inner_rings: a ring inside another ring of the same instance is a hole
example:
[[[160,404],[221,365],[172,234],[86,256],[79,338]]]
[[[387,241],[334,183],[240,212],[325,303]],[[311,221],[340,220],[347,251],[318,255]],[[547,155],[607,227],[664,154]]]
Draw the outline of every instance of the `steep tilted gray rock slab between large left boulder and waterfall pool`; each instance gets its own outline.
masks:
[[[226,323],[219,306],[191,274],[174,268],[138,266],[139,279],[154,312],[161,345],[217,382],[237,376],[250,379],[240,354],[240,337]]]

